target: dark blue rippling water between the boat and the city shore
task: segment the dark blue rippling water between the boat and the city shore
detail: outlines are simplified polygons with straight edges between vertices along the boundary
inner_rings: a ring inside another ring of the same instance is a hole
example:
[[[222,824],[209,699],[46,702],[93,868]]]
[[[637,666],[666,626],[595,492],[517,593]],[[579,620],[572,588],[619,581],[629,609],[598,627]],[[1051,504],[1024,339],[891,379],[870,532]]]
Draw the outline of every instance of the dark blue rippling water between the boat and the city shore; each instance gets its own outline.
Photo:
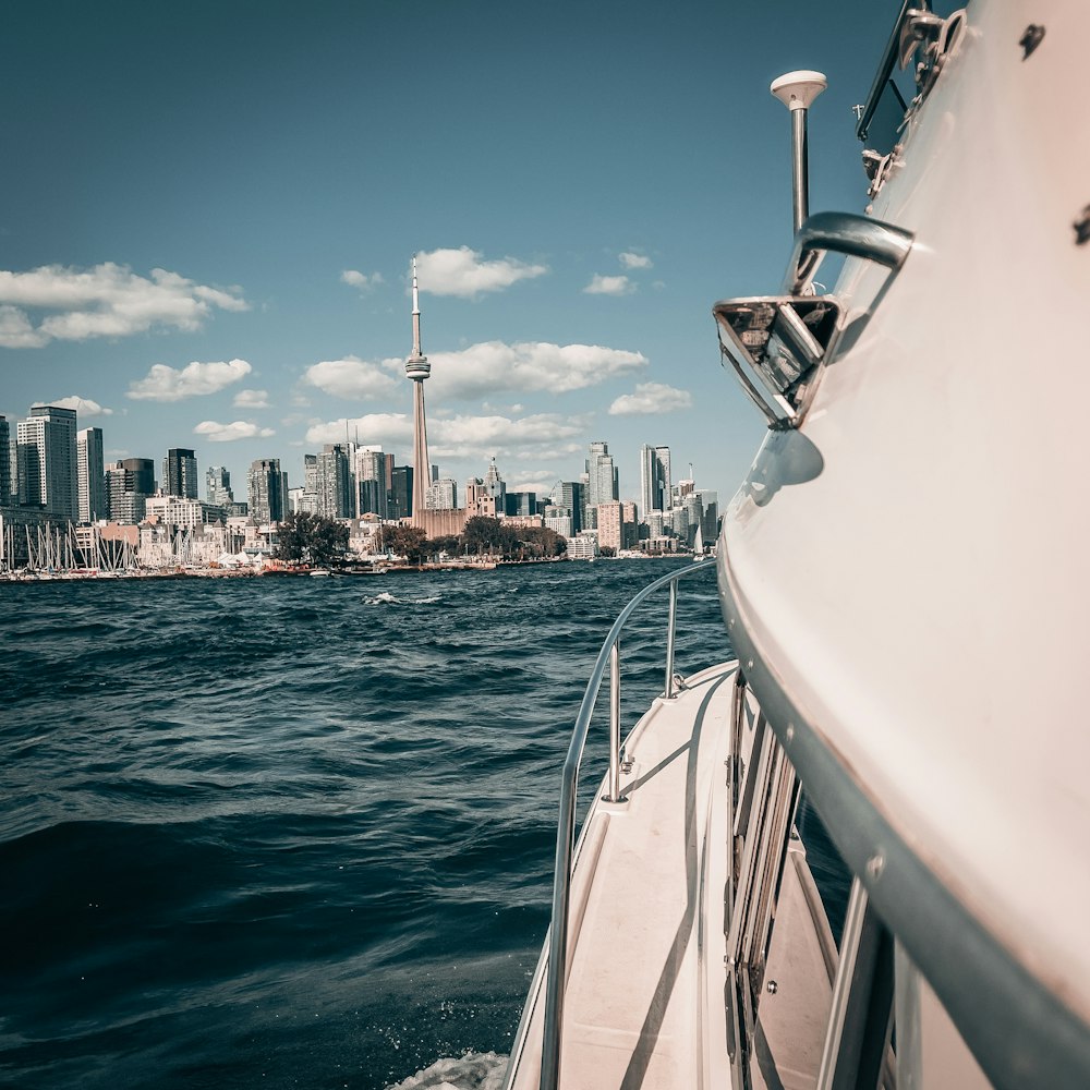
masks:
[[[0,584],[0,1085],[498,1078],[586,675],[678,562]],[[691,673],[729,649],[681,588]]]

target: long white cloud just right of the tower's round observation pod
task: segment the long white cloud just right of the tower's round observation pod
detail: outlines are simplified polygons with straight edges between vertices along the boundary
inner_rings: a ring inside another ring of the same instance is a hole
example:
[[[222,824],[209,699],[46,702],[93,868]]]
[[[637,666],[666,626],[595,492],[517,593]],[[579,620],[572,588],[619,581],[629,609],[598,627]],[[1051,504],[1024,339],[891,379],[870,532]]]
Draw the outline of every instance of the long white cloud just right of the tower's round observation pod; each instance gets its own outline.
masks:
[[[485,341],[460,352],[434,352],[427,391],[444,398],[493,397],[502,391],[569,393],[639,371],[640,352],[602,344]]]

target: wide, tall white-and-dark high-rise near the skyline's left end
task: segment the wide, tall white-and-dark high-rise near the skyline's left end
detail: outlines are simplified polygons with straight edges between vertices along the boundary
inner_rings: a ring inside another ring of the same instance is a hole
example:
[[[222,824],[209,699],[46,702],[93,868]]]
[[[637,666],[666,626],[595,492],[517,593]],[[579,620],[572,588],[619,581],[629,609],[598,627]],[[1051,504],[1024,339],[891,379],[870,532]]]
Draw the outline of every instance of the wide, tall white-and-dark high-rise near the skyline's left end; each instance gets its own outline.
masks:
[[[76,519],[75,427],[75,410],[59,405],[34,405],[29,417],[19,422],[21,504],[40,506],[62,519]]]

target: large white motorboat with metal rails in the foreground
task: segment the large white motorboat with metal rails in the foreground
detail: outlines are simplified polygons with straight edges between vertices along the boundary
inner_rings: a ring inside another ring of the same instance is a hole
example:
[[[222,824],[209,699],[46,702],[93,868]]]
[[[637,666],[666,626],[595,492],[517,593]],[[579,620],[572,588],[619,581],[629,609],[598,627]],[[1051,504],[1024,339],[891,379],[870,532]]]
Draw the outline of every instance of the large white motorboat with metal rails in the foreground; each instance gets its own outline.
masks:
[[[713,307],[767,425],[717,543],[738,657],[674,673],[708,564],[615,622],[511,1090],[1090,1086],[1086,41],[1085,3],[906,0],[859,111],[861,214],[810,214],[825,77],[773,84],[794,250],[778,292]],[[664,691],[622,739],[625,625],[667,591]]]

